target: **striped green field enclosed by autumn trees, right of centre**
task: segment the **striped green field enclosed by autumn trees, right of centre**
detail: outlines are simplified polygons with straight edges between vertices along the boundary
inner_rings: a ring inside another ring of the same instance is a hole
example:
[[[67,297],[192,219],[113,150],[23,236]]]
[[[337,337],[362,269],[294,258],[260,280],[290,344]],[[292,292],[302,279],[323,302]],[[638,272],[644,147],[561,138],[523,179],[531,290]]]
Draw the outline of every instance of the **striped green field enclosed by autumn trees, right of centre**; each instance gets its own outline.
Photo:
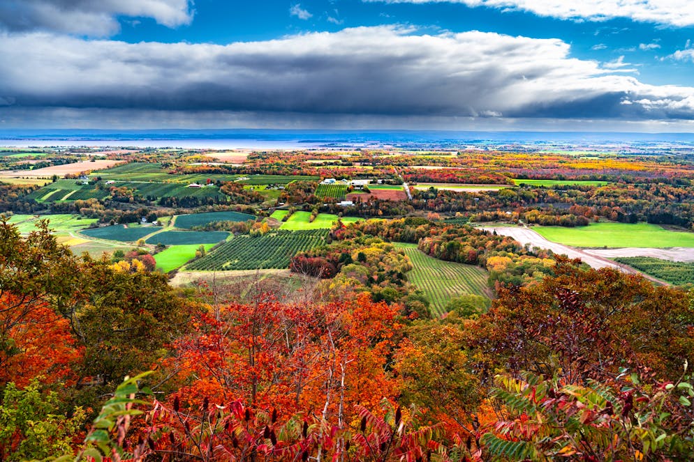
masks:
[[[421,252],[415,244],[398,243],[412,261],[414,269],[407,273],[429,300],[429,309],[436,316],[445,314],[451,298],[473,294],[488,297],[487,272],[474,265],[443,261]]]

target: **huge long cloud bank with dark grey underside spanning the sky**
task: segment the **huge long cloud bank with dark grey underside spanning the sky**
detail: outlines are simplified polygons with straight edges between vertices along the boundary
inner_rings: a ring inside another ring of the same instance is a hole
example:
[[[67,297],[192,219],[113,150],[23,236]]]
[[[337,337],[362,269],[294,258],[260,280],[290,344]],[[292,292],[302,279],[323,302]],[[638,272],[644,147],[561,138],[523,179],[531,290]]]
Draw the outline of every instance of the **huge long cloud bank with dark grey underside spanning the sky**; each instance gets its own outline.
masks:
[[[642,84],[568,54],[556,39],[422,36],[385,26],[227,46],[7,34],[0,38],[0,101],[143,111],[693,118],[694,88]]]

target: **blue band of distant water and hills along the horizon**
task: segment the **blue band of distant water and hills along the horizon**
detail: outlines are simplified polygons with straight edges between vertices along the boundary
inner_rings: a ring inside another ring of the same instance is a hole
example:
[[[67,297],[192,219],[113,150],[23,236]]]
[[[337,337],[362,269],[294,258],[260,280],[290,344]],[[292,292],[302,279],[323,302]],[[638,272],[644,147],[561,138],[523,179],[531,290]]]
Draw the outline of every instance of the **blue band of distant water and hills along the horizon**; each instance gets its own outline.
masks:
[[[338,130],[0,130],[0,146],[215,149],[459,148],[505,144],[694,144],[691,133]]]

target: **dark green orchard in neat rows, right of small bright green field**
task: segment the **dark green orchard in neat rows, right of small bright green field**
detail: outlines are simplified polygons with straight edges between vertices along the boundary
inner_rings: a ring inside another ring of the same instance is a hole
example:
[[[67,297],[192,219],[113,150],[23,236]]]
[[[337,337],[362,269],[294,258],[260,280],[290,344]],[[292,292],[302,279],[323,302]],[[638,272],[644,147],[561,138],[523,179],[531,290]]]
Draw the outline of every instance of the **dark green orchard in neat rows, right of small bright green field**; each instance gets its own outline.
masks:
[[[187,270],[265,270],[288,268],[290,259],[325,244],[327,229],[309,231],[271,231],[258,236],[236,236],[202,259],[186,266]]]

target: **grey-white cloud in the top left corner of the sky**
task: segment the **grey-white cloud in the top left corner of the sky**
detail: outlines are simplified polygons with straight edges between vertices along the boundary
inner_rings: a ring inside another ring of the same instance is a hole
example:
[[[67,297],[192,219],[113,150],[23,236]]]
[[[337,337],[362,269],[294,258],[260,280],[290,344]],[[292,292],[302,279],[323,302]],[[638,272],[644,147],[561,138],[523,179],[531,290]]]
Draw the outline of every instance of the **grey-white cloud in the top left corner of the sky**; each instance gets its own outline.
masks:
[[[0,30],[52,31],[105,37],[118,16],[152,17],[169,27],[192,20],[189,0],[1,0]]]

